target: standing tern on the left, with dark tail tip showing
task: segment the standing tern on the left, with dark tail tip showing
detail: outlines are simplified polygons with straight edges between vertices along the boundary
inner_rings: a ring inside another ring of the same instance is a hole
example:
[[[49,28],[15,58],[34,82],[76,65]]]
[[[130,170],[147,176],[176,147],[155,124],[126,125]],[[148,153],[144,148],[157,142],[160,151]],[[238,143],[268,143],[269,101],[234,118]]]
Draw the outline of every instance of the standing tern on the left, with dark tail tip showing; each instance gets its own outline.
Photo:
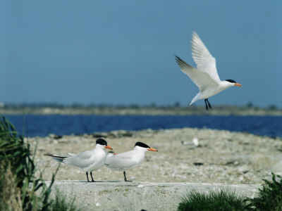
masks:
[[[75,155],[73,153],[68,153],[69,155],[71,155],[71,157],[61,157],[50,154],[44,155],[50,156],[56,161],[66,163],[68,165],[78,167],[83,171],[86,171],[87,181],[89,181],[88,172],[90,172],[92,181],[94,181],[92,177],[92,171],[98,170],[106,162],[105,148],[112,150],[111,146],[109,146],[104,139],[97,139],[94,149],[92,149],[91,151],[79,153],[78,155]]]

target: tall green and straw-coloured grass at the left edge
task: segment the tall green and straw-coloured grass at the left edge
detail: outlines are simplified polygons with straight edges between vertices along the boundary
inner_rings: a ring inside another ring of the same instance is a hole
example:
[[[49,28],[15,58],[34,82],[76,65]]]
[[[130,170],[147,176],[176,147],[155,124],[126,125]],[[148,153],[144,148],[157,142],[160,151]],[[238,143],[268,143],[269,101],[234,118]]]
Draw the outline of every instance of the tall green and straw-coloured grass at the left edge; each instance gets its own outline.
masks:
[[[30,144],[6,117],[0,116],[0,210],[76,210],[61,194],[49,198],[56,172],[47,186],[42,174],[35,177],[33,160]]]

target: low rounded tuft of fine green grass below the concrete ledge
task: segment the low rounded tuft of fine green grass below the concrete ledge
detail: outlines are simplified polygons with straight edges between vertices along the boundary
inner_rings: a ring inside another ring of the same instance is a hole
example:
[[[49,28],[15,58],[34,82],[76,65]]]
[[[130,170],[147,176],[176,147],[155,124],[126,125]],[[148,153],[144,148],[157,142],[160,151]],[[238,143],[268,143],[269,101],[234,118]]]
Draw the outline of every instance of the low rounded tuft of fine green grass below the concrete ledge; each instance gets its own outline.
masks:
[[[208,193],[190,191],[178,205],[178,211],[183,210],[244,210],[247,203],[245,198],[237,196],[235,191],[220,189]]]

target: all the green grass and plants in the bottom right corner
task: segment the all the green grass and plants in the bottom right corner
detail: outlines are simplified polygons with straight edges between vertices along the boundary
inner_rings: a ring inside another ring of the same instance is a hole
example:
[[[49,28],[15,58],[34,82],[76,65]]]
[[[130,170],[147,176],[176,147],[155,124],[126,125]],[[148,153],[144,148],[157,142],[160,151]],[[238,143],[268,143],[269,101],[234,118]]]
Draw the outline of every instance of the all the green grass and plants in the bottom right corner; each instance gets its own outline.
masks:
[[[259,188],[255,198],[238,196],[235,191],[219,190],[208,193],[190,191],[182,198],[178,211],[182,210],[256,210],[282,211],[282,177],[272,174],[272,181],[262,179],[264,185]]]

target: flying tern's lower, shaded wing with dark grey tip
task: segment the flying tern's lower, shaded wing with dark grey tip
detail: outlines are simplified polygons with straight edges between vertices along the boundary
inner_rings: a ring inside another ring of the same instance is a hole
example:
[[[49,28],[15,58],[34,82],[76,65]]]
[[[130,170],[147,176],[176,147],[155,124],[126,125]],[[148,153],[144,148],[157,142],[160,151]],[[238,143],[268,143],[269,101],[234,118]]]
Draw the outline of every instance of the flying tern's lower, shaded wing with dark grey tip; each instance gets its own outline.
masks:
[[[188,65],[188,63],[185,63],[184,60],[176,56],[176,62],[180,66],[181,70],[187,74],[190,79],[199,87],[200,91],[203,91],[209,86],[216,86],[217,83],[214,81],[214,79],[207,73],[202,72],[201,70],[197,70],[196,68],[193,68],[191,65]]]

